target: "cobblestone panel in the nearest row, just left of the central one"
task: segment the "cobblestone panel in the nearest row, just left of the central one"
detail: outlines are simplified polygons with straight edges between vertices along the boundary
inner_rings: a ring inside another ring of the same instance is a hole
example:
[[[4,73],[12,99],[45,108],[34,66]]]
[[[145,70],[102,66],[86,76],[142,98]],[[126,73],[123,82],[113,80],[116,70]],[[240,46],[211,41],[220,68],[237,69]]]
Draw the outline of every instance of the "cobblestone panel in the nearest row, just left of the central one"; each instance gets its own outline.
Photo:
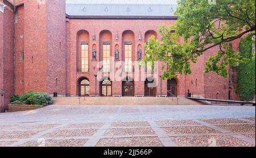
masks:
[[[88,139],[39,139],[24,143],[22,147],[81,147]]]

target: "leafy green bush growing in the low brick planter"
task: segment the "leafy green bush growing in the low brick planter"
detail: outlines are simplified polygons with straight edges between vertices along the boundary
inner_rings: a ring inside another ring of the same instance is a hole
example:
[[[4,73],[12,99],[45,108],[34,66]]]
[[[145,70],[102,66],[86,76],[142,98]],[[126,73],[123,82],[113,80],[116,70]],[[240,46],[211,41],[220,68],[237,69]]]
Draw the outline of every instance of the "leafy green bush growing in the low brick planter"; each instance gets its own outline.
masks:
[[[28,105],[50,105],[52,104],[52,97],[48,93],[43,92],[27,92],[22,96],[12,96],[11,104],[28,104]]]

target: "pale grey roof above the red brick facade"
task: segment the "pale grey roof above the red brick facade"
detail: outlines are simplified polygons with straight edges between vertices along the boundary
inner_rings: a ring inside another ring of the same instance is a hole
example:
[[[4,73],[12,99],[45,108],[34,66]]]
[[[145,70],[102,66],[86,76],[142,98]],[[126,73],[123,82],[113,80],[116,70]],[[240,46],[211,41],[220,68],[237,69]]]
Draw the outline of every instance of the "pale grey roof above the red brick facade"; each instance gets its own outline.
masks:
[[[176,0],[66,0],[69,16],[174,16]]]

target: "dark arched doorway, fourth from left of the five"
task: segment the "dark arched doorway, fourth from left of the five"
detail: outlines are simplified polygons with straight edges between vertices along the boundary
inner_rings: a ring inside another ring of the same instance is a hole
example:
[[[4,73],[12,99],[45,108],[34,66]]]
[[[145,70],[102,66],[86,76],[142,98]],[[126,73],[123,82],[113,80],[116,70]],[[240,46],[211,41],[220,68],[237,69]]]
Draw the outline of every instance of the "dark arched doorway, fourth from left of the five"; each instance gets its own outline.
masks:
[[[156,83],[154,78],[147,78],[144,83],[144,96],[155,97],[156,95]]]

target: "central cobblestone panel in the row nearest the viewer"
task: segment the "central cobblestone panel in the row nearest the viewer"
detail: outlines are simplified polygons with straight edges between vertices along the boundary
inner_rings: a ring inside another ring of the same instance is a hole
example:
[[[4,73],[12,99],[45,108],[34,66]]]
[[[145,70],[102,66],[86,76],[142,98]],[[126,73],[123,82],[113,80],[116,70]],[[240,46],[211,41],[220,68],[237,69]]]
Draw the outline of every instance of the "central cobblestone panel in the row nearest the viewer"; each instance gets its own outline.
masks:
[[[102,138],[97,147],[163,147],[157,137]]]

